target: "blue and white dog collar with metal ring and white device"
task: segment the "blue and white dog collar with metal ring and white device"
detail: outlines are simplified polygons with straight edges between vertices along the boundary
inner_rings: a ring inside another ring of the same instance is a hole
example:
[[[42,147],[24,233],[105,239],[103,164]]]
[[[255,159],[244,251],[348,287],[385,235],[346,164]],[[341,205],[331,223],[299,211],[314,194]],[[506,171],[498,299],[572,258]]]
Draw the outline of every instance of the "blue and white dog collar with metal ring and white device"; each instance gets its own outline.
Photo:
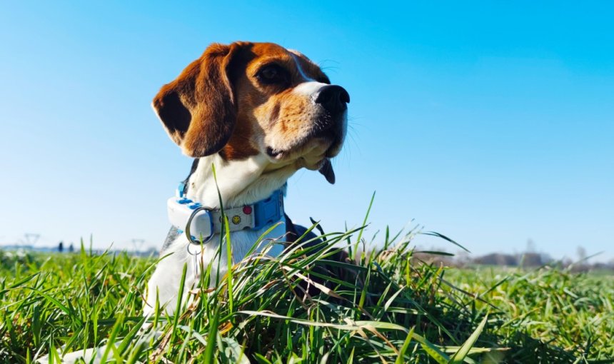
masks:
[[[180,233],[186,231],[186,236],[192,243],[206,243],[223,230],[222,212],[188,199],[183,193],[184,188],[185,184],[181,183],[177,188],[177,195],[168,198],[168,220]],[[281,221],[285,188],[286,185],[271,193],[271,196],[251,205],[224,208],[223,213],[228,218],[230,231],[258,231]]]

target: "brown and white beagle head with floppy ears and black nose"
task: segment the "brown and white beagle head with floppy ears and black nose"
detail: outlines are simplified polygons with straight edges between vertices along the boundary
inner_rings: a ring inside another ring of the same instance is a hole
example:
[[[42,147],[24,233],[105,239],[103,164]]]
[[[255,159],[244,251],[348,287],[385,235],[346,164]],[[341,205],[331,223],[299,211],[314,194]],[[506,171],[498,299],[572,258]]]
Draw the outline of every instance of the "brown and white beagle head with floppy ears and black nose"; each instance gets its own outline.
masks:
[[[226,161],[261,154],[275,170],[320,170],[341,151],[348,92],[306,56],[271,43],[211,44],[164,85],[154,110],[186,156]]]

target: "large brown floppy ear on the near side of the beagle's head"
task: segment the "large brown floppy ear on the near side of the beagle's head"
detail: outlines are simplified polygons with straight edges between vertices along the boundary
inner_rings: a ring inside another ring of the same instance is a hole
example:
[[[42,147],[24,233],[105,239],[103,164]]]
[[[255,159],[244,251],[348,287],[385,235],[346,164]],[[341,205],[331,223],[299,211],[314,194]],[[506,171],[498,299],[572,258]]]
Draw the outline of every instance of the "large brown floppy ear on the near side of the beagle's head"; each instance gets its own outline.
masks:
[[[239,48],[239,44],[211,44],[154,97],[158,118],[186,156],[216,153],[231,137],[237,108],[228,74]]]

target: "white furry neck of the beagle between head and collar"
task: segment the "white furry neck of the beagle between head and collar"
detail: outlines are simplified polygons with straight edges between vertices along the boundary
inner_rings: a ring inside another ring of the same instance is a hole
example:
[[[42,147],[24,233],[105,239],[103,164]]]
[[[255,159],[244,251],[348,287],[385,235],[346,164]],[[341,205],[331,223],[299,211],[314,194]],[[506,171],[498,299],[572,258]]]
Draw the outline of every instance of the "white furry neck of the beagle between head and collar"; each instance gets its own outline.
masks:
[[[186,196],[208,208],[220,208],[220,196],[225,208],[248,205],[271,196],[294,172],[293,164],[273,166],[262,154],[226,161],[216,153],[198,160],[188,178]]]

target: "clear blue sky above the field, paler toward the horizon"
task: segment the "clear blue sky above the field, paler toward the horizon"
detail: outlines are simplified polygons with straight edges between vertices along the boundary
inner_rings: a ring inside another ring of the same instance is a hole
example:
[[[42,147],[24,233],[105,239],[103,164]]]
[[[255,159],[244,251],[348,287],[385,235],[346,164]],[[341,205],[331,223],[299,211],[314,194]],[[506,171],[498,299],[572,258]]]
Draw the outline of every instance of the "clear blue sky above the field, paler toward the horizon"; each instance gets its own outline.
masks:
[[[474,255],[532,239],[610,260],[612,14],[590,1],[6,3],[0,243],[161,246],[191,161],[151,98],[211,42],[250,40],[298,49],[351,94],[337,183],[291,178],[295,221],[358,226],[377,191],[371,233],[413,219]]]

